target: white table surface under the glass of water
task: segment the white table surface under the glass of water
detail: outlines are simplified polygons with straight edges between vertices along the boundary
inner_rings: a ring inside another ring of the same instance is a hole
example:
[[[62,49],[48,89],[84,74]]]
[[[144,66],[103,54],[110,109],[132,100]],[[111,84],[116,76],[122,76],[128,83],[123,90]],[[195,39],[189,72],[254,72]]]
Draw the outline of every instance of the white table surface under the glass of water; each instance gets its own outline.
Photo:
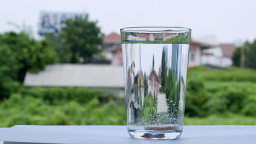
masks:
[[[184,126],[177,140],[132,139],[126,126],[39,126],[15,125],[0,128],[0,144],[31,143],[253,143],[256,144],[256,125]]]

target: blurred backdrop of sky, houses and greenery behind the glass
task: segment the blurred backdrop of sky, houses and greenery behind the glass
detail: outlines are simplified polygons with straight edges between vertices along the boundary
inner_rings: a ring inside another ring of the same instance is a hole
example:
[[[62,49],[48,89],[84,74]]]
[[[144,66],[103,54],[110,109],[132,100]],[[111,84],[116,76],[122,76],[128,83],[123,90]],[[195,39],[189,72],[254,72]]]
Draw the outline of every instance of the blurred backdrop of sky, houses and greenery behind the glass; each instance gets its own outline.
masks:
[[[119,29],[192,29],[185,125],[256,125],[255,1],[5,1],[0,127],[126,125]]]

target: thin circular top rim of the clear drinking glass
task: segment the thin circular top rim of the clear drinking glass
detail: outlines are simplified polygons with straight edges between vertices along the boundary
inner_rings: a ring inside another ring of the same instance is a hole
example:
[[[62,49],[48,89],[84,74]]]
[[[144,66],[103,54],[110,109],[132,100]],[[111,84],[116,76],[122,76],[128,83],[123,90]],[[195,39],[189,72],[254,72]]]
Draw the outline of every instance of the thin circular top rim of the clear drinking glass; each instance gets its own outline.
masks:
[[[148,29],[147,29],[148,28]],[[154,30],[154,28],[156,30]],[[162,28],[161,30],[157,30],[157,28]],[[139,32],[139,31],[152,31],[152,32],[162,32],[162,31],[184,31],[184,32],[191,32],[190,28],[187,27],[155,27],[155,26],[146,26],[146,27],[124,27],[121,28],[120,31],[135,31],[135,32]]]

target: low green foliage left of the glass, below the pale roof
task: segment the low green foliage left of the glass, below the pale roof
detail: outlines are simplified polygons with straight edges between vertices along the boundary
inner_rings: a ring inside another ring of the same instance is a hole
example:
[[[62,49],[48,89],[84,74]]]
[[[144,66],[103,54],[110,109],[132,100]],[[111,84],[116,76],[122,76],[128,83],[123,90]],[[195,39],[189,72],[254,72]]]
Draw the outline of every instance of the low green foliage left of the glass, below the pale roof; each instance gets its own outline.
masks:
[[[61,99],[62,92],[68,94]],[[75,96],[78,93],[82,94]],[[12,127],[15,124],[125,125],[124,103],[117,105],[109,101],[101,104],[100,97],[107,95],[97,89],[29,88],[22,94],[11,94],[9,99],[0,103],[0,127]]]

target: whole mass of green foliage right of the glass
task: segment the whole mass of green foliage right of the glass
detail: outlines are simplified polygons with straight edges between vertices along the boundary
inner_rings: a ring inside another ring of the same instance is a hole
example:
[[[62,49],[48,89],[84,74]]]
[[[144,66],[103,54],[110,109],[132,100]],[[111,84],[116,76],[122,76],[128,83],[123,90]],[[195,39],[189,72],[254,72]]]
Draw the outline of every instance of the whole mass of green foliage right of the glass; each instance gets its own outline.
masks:
[[[254,116],[255,76],[255,70],[236,67],[225,70],[190,68],[185,114],[205,117],[231,112]]]

